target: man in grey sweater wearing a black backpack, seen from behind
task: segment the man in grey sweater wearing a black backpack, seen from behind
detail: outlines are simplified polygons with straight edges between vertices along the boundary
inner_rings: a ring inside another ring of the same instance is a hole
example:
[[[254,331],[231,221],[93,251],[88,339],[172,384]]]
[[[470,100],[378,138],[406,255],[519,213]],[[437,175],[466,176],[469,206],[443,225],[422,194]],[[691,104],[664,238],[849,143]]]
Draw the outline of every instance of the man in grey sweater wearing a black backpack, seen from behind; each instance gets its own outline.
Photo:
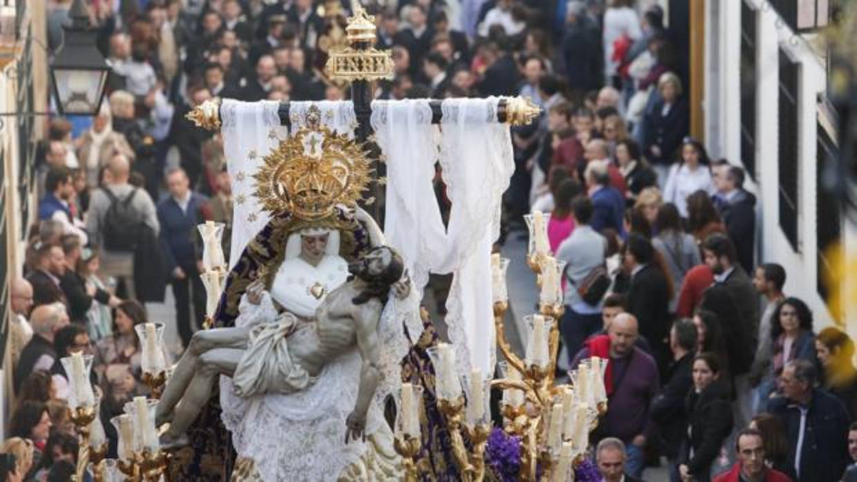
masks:
[[[87,212],[87,232],[90,241],[102,248],[101,271],[106,276],[116,277],[125,284],[127,298],[135,298],[134,289],[134,249],[129,240],[119,230],[113,229],[117,225],[123,225],[124,234],[139,229],[141,224],[153,229],[154,235],[159,233],[158,214],[152,198],[145,189],[131,186],[128,183],[130,174],[130,162],[122,154],[117,154],[109,164],[107,170],[109,182],[105,187],[96,189],[89,201]],[[127,203],[128,210],[125,214],[128,218],[117,220],[108,219],[107,213],[113,203]],[[108,223],[108,221],[110,221]]]

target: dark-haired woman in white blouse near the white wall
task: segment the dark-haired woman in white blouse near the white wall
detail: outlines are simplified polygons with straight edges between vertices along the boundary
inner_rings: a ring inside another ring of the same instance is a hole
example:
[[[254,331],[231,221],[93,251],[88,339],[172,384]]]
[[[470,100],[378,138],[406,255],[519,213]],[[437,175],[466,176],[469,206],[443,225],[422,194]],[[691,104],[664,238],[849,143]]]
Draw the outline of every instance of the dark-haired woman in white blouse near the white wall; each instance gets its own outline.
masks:
[[[663,188],[664,202],[673,203],[681,217],[688,217],[687,198],[692,193],[698,190],[714,193],[708,164],[708,154],[702,143],[686,137],[681,144],[678,162],[669,168],[667,185]]]

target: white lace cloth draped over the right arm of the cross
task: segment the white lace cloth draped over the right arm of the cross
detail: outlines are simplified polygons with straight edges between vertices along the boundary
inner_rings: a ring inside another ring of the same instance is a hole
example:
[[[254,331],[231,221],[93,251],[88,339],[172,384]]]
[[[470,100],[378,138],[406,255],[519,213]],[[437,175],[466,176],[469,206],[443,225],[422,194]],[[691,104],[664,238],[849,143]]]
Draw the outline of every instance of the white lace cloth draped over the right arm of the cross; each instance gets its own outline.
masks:
[[[422,291],[428,273],[453,273],[446,324],[458,371],[494,372],[491,245],[500,233],[500,198],[514,170],[509,128],[498,98],[446,99],[440,131],[428,100],[375,101],[372,126],[387,157],[385,234]],[[440,162],[452,201],[448,228],[434,199]]]

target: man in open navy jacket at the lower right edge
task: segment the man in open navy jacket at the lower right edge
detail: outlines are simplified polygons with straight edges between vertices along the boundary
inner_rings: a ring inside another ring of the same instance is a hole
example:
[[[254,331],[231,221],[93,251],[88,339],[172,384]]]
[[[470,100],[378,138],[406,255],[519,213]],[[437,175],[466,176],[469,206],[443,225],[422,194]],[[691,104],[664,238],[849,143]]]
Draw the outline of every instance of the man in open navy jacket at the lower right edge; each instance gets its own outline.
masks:
[[[848,466],[848,412],[836,396],[815,388],[815,365],[793,360],[782,369],[782,397],[770,402],[788,437],[788,465],[797,482],[839,480]]]

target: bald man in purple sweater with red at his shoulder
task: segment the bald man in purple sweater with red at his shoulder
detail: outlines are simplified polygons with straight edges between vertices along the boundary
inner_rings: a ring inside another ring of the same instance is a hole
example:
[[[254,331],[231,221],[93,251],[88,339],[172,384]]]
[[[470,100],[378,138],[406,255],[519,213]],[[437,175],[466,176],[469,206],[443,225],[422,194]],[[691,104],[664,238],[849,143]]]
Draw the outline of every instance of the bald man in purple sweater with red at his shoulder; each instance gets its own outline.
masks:
[[[635,346],[638,336],[637,318],[620,313],[613,318],[607,335],[587,340],[572,362],[572,367],[576,367],[580,360],[590,356],[610,360],[604,377],[608,411],[599,435],[616,437],[626,444],[626,473],[636,478],[643,473],[644,446],[655,430],[650,406],[660,385],[655,360]]]

